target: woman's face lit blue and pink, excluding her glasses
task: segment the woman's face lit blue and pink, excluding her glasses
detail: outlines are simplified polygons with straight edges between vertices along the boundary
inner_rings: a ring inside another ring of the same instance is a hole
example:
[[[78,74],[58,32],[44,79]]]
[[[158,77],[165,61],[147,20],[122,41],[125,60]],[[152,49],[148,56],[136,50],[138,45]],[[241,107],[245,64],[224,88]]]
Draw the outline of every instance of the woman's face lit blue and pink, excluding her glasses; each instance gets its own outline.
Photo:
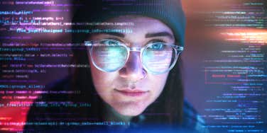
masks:
[[[105,25],[99,29],[131,29],[132,33],[97,33],[88,40],[112,39],[129,47],[143,47],[149,42],[174,43],[172,30],[164,23],[143,16],[119,16],[107,22],[132,22],[134,25]],[[90,56],[90,55],[89,55]],[[99,96],[121,115],[136,116],[151,105],[163,91],[168,72],[151,74],[143,68],[140,52],[131,51],[122,69],[104,72],[89,57],[94,87]]]

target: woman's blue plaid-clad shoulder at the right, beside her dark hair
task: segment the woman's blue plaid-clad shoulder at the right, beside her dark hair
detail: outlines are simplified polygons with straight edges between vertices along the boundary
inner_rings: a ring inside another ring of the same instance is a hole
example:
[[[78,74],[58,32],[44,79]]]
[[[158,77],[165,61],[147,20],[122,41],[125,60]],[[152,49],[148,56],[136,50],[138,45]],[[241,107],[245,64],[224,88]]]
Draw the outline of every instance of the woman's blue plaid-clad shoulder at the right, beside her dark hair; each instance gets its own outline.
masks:
[[[184,101],[182,120],[182,127],[201,133],[208,132],[208,130],[205,129],[205,120],[202,119],[195,108],[193,108],[187,100]]]

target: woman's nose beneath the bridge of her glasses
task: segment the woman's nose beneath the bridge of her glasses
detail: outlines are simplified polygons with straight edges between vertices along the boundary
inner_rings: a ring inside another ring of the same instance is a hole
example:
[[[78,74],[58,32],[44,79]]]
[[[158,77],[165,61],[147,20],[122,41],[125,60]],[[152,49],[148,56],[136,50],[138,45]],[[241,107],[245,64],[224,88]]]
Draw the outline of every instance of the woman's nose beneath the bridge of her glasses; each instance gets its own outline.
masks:
[[[143,69],[140,52],[130,52],[125,66],[119,70],[119,75],[133,83],[146,78],[147,72]]]

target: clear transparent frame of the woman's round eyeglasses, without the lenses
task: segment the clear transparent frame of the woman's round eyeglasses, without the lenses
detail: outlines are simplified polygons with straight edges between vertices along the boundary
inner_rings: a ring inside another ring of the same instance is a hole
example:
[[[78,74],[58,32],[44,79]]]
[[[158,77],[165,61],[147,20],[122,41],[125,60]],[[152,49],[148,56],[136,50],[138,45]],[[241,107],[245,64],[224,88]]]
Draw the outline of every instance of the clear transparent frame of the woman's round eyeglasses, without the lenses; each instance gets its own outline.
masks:
[[[100,41],[103,41],[103,40],[112,40],[112,39],[88,40],[88,41],[85,41],[85,44],[84,45],[86,47],[89,47],[90,48],[89,49],[89,54],[90,54],[90,57],[92,59],[92,63],[94,64],[94,67],[97,67],[97,69],[99,69],[101,71],[104,71],[104,72],[114,72],[114,71],[106,71],[106,70],[98,67],[97,64],[95,64],[94,59],[92,57],[92,47],[95,44],[94,42],[100,42]],[[129,60],[130,52],[133,51],[133,52],[140,52],[139,57],[141,59],[141,64],[142,64],[143,68],[146,69],[146,71],[148,71],[151,74],[164,74],[167,71],[170,71],[171,69],[173,69],[173,67],[175,66],[175,64],[176,64],[176,62],[178,60],[178,57],[179,57],[180,53],[184,50],[184,47],[179,46],[179,45],[174,45],[174,43],[171,43],[170,44],[170,43],[165,43],[165,42],[156,42],[156,43],[151,43],[151,44],[145,45],[143,47],[129,47],[126,44],[130,44],[130,43],[121,42],[119,40],[112,40],[112,41],[119,42],[119,44],[121,46],[125,47],[126,50],[127,50],[127,58],[126,58],[126,61],[124,62],[124,65],[122,65],[122,67],[119,67],[119,69],[116,69],[115,71],[118,71],[118,70],[122,69],[125,66],[126,62],[128,62],[128,60]],[[143,57],[142,56],[143,55],[143,50],[145,50],[147,47],[150,47],[151,45],[155,45],[157,43],[164,43],[164,45],[171,46],[175,50],[175,59],[174,59],[173,64],[171,64],[171,66],[168,69],[166,69],[165,71],[162,71],[162,72],[154,72],[154,71],[149,70],[146,67],[146,65],[143,64],[143,59],[142,59],[142,57]]]

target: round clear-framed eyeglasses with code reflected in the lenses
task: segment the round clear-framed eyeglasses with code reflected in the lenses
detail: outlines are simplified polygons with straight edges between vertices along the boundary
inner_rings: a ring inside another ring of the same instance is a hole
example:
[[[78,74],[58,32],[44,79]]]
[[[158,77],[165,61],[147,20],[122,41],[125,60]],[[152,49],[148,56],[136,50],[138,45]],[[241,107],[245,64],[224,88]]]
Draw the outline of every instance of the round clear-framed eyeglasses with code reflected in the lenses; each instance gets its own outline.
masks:
[[[170,71],[177,62],[183,47],[165,42],[149,42],[144,47],[128,47],[118,40],[102,39],[85,41],[97,69],[105,72],[118,71],[129,59],[130,52],[140,52],[141,63],[152,74]]]

